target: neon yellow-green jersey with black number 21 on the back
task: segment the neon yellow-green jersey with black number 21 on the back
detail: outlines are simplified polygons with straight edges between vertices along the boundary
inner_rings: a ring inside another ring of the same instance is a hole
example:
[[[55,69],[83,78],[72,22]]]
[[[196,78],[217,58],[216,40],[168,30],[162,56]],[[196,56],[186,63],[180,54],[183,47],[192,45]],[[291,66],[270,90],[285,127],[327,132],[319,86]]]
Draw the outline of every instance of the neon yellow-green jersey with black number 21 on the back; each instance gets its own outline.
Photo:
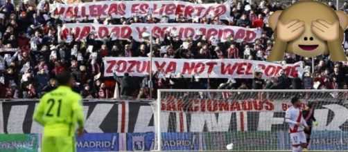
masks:
[[[76,124],[84,126],[81,99],[68,86],[59,86],[40,99],[33,119],[44,126],[44,137],[74,136]]]

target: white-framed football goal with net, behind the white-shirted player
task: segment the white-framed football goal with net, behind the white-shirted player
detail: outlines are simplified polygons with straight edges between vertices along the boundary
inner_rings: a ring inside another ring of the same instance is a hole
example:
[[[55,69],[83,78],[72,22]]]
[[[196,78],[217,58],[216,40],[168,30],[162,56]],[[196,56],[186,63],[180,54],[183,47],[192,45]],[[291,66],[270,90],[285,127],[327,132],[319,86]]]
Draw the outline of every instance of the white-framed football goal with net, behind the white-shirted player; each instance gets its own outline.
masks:
[[[293,96],[315,109],[308,149],[348,151],[348,91],[341,90],[159,90],[155,150],[289,151],[284,117]]]

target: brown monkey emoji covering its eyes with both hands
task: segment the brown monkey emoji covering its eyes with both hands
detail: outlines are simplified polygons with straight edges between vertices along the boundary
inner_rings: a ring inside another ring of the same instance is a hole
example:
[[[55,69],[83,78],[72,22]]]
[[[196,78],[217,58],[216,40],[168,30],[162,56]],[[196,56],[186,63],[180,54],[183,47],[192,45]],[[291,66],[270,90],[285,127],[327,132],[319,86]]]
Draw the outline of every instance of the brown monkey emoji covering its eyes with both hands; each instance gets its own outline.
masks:
[[[275,44],[267,61],[281,61],[284,53],[302,57],[329,54],[331,61],[347,61],[342,48],[348,15],[318,1],[297,1],[268,19]]]

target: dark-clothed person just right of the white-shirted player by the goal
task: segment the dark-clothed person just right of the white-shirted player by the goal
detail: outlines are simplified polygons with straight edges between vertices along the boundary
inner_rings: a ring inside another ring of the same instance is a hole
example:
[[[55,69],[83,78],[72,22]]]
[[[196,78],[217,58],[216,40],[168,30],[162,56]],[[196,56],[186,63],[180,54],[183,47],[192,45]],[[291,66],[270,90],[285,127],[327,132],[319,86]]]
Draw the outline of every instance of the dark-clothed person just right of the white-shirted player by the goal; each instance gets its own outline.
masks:
[[[304,133],[306,133],[306,140],[307,140],[307,144],[304,147],[304,151],[306,151],[308,144],[311,140],[313,124],[317,126],[317,122],[316,122],[317,120],[315,120],[315,117],[314,117],[313,103],[308,102],[306,104],[306,108],[304,108],[304,111],[302,111],[302,113],[303,113],[304,120],[308,124],[308,130],[304,130]]]

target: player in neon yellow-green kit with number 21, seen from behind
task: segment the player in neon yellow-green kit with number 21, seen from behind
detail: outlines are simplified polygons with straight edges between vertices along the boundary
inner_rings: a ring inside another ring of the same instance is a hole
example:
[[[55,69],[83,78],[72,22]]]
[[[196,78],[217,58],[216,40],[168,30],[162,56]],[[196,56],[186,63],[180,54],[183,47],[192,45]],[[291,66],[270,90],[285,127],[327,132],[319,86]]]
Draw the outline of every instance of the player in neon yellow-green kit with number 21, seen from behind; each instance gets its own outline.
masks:
[[[40,99],[33,119],[44,126],[43,152],[73,152],[76,124],[79,137],[84,130],[81,96],[71,90],[74,80],[70,73],[58,74],[57,80],[60,86]]]

